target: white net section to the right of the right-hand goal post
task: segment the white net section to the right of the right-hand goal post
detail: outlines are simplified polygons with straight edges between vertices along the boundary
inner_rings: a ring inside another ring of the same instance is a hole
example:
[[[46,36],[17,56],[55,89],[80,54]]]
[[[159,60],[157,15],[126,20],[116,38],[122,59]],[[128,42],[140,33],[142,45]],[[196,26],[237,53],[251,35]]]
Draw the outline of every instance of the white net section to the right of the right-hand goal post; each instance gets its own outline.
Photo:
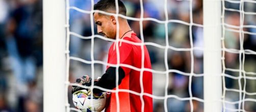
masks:
[[[256,93],[251,88],[255,85],[255,70],[250,69],[253,65],[249,64],[251,57],[255,57],[255,51],[252,50],[254,43],[248,43],[255,37],[255,20],[249,20],[251,17],[255,19],[255,9],[246,9],[248,4],[255,7],[255,1],[222,1],[222,102],[225,111],[255,111],[252,105],[255,105]],[[234,21],[229,21],[231,17]],[[235,34],[234,37],[228,35],[231,33]],[[237,38],[237,45],[228,45],[231,38]],[[230,65],[228,55],[238,57],[239,66]],[[228,85],[233,81],[238,86]]]

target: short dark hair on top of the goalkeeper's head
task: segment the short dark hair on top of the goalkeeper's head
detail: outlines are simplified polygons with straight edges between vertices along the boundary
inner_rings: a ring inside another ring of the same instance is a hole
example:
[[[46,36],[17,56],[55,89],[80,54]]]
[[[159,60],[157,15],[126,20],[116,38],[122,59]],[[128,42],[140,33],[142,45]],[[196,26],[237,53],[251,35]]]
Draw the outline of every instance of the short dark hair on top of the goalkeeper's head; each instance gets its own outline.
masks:
[[[118,0],[119,14],[126,16],[126,8],[122,1]],[[105,12],[116,11],[115,0],[100,0],[97,4],[94,5],[93,10],[100,10]]]

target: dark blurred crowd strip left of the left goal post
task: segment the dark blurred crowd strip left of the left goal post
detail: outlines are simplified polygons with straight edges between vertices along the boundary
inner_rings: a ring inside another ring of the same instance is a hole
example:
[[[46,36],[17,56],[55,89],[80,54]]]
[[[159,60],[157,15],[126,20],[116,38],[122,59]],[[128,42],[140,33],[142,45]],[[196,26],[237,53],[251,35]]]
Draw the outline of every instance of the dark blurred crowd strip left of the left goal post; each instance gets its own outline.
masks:
[[[0,111],[42,111],[42,1],[0,0]]]

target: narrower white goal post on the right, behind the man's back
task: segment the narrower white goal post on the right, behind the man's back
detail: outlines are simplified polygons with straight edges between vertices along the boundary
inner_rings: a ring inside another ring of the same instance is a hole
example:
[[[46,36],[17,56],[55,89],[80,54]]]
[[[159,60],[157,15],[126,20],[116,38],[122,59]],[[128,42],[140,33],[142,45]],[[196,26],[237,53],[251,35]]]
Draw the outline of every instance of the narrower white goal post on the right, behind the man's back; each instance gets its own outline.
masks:
[[[203,0],[204,111],[222,111],[221,1]]]

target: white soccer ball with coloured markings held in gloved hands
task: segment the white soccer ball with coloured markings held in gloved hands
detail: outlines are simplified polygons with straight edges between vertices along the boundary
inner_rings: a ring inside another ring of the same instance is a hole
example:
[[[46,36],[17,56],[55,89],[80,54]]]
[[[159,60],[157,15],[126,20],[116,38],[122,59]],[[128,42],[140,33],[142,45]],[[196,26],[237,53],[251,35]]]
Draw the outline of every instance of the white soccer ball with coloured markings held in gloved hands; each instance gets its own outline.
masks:
[[[102,111],[106,105],[106,92],[93,94],[91,98],[87,90],[80,90],[73,93],[73,103],[81,111]]]

